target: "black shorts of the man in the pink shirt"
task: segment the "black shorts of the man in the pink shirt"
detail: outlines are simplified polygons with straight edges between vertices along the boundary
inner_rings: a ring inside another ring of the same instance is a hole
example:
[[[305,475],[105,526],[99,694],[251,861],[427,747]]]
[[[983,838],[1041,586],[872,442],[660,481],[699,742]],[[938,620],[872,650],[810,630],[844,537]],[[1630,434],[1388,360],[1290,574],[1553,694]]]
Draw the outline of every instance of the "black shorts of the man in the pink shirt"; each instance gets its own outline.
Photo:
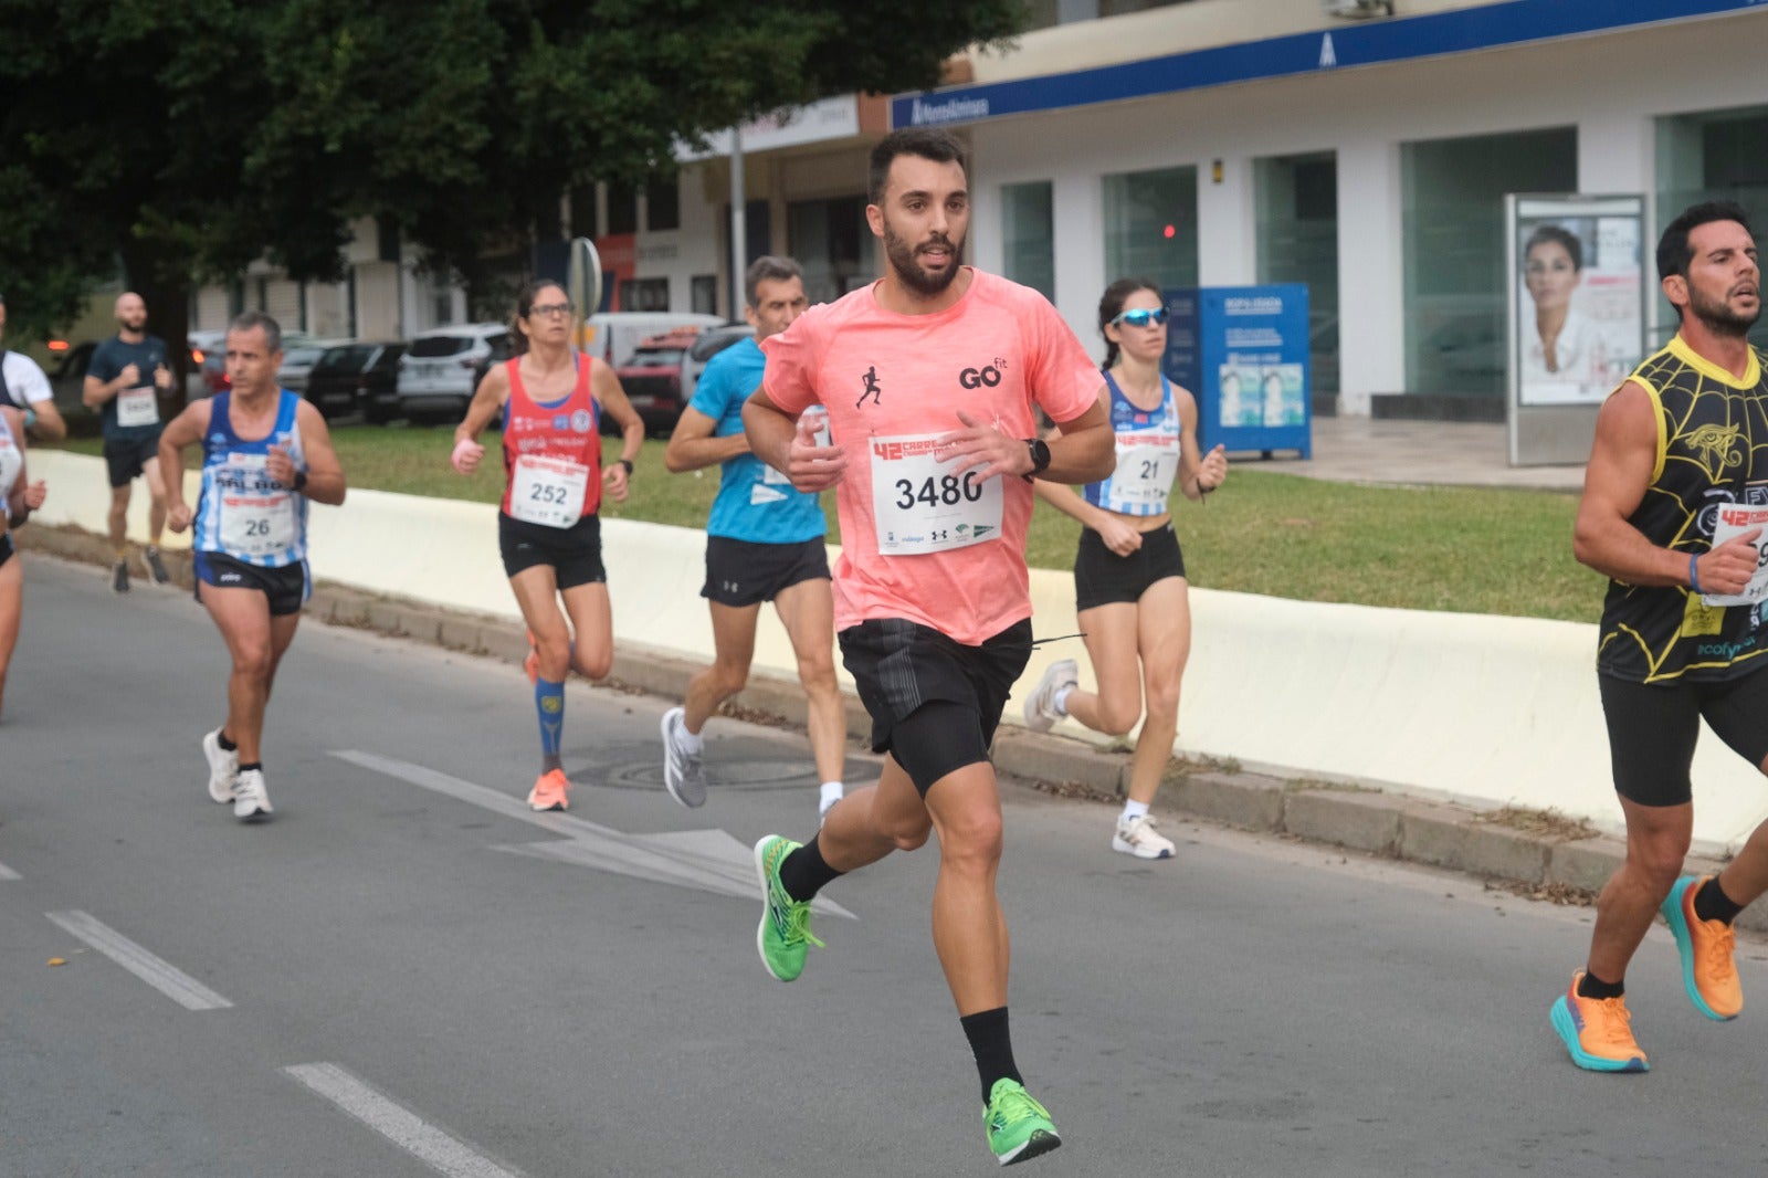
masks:
[[[872,715],[872,752],[895,755],[925,796],[946,773],[988,759],[1001,709],[1031,660],[1031,619],[981,646],[900,617],[849,626],[840,642],[842,663]],[[898,746],[905,725],[916,739]]]

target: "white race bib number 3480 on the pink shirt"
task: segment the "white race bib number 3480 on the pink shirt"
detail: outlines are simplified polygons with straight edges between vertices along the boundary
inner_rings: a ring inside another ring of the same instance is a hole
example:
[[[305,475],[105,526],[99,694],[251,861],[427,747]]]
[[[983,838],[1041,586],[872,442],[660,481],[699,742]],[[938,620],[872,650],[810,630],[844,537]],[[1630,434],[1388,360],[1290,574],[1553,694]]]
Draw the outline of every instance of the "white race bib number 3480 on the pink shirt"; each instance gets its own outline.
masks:
[[[923,555],[1001,536],[1001,479],[953,472],[939,433],[872,439],[872,516],[880,555]]]

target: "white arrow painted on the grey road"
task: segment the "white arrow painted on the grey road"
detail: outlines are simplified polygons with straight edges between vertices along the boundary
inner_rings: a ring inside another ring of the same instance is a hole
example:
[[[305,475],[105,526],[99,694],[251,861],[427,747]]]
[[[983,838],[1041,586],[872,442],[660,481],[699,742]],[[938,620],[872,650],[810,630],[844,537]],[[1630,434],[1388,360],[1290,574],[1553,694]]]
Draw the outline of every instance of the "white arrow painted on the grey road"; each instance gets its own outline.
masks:
[[[456,801],[476,805],[518,822],[530,822],[562,837],[550,842],[495,847],[497,851],[532,854],[543,860],[562,860],[603,872],[668,883],[677,888],[734,895],[743,900],[757,899],[755,856],[751,849],[721,830],[628,835],[608,826],[585,822],[569,814],[552,810],[536,814],[520,798],[408,761],[396,761],[354,748],[332,750],[331,755],[362,769],[385,773],[401,782],[447,794]],[[850,911],[824,897],[817,897],[812,902],[812,911],[857,920]]]

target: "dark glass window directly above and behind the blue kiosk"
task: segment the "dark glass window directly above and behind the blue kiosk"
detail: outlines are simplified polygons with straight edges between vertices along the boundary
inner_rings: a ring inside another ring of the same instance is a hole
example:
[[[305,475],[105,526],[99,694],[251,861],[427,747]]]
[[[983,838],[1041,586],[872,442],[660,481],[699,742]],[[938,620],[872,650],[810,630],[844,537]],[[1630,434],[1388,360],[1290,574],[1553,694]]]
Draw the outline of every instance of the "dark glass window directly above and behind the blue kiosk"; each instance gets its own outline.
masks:
[[[1314,393],[1338,391],[1338,159],[1331,152],[1254,163],[1259,281],[1308,288]]]

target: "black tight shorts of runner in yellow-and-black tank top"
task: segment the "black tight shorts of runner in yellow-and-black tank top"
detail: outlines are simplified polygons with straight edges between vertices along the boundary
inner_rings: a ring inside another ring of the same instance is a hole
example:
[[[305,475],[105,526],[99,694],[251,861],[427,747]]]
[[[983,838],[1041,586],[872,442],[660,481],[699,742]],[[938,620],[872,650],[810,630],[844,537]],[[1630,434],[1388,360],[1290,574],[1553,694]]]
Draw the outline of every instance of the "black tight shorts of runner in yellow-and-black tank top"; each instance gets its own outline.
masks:
[[[1597,676],[1609,722],[1614,789],[1642,807],[1680,807],[1694,798],[1688,766],[1704,718],[1757,769],[1768,759],[1768,674],[1694,683],[1634,683]]]

